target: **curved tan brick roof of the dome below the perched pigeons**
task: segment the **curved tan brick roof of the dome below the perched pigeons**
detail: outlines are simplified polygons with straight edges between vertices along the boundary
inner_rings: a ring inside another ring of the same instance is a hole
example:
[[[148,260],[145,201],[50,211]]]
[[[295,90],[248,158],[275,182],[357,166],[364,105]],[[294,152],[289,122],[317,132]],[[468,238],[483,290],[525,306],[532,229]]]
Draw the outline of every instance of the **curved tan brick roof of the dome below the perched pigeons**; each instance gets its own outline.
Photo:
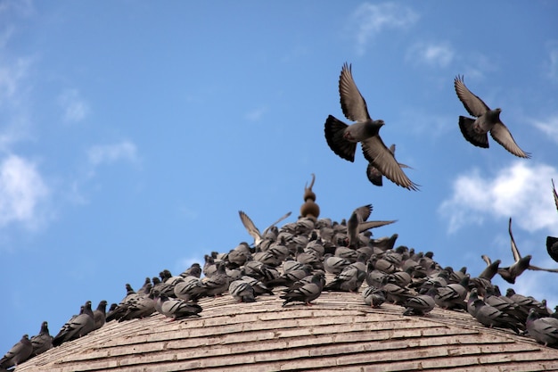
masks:
[[[366,306],[360,293],[323,293],[309,307],[282,308],[276,295],[200,304],[199,318],[112,321],[16,370],[558,370],[555,349],[482,327],[465,312],[403,316],[400,306]]]

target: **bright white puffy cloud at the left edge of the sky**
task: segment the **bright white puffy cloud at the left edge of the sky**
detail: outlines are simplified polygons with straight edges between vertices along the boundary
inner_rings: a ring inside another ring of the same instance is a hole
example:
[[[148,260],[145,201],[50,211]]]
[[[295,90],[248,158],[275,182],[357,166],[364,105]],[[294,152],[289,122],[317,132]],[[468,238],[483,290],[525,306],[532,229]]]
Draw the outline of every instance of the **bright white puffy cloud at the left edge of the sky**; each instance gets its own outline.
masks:
[[[21,222],[36,227],[40,222],[40,206],[50,191],[36,165],[17,155],[0,163],[0,227]]]

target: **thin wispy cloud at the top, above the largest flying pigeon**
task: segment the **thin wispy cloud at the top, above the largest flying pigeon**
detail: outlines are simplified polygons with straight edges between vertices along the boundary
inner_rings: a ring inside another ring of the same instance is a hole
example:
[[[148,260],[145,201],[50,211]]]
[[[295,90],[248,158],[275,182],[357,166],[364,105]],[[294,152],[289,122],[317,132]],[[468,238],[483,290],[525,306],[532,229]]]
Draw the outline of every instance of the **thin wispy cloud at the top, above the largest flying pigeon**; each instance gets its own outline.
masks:
[[[370,39],[384,29],[404,29],[418,18],[411,8],[399,3],[361,4],[350,20],[350,28],[357,29],[357,52],[364,54]]]

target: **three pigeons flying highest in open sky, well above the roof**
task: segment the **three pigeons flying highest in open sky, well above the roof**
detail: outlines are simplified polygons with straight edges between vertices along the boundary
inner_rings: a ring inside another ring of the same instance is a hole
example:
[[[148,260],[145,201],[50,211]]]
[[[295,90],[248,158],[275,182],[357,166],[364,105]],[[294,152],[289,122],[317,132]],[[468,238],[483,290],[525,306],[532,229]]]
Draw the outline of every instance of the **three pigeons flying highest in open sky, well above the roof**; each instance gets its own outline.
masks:
[[[465,109],[476,119],[459,116],[459,128],[472,145],[488,148],[488,132],[504,148],[521,158],[530,158],[513,140],[513,136],[500,120],[501,109],[492,110],[479,96],[465,87],[463,77],[454,80],[455,93],[464,104]],[[382,175],[398,186],[409,190],[418,190],[418,185],[406,177],[402,168],[409,168],[395,159],[395,145],[386,147],[380,136],[383,120],[373,120],[368,113],[365,98],[353,79],[351,66],[345,63],[339,78],[339,95],[341,110],[345,117],[355,123],[347,125],[329,115],[325,120],[324,134],[327,145],[346,161],[355,161],[357,144],[360,142],[362,152],[368,161],[366,176],[376,186],[382,186]]]

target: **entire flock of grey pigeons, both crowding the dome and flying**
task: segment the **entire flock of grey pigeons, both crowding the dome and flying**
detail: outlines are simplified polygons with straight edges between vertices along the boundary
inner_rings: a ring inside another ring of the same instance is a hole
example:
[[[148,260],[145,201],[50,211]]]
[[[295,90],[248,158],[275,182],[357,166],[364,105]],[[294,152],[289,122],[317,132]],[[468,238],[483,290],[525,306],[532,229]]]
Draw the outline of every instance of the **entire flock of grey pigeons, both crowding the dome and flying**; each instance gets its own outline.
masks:
[[[327,118],[324,133],[332,151],[345,160],[354,161],[360,142],[365,159],[369,161],[366,174],[374,185],[382,186],[382,176],[385,176],[398,186],[417,190],[418,186],[402,170],[408,167],[395,160],[395,145],[388,149],[383,144],[379,129],[384,122],[370,118],[347,63],[341,70],[339,91],[344,115],[356,123],[347,125],[332,115]],[[529,158],[529,153],[515,144],[500,121],[500,109],[489,109],[465,87],[463,78],[455,78],[455,92],[467,112],[477,118],[459,117],[459,127],[467,141],[488,147],[487,133],[490,132],[507,151]],[[305,199],[308,190],[314,195],[311,186],[305,188]],[[553,193],[558,210],[554,180]],[[530,255],[521,257],[513,240],[512,219],[509,234],[513,265],[500,268],[501,260],[492,261],[484,255],[486,269],[477,277],[471,277],[466,268],[441,267],[432,259],[432,252],[414,252],[413,248],[403,245],[395,247],[397,234],[373,239],[371,228],[396,221],[368,221],[373,210],[371,204],[357,208],[341,223],[317,219],[317,204],[313,209],[314,215],[301,211],[297,222],[276,227],[291,215],[289,212],[263,233],[246,213],[239,211],[242,224],[254,238],[251,246],[242,242],[230,252],[212,252],[205,256],[203,267],[195,263],[178,276],[163,270],[159,277],[146,277],[138,291],[127,284],[126,296],[118,304],[112,303],[108,311],[106,301],[100,302],[96,310],[92,310],[91,302],[86,302],[79,314],[70,318],[55,336],[49,334],[45,321],[38,335],[30,339],[29,335],[23,335],[20,342],[13,345],[0,360],[0,370],[83,337],[103,327],[105,322],[145,318],[155,312],[172,320],[199,316],[202,309],[198,301],[203,297],[229,293],[238,302],[255,302],[259,295],[275,295],[277,287],[283,288],[279,295],[283,306],[291,302],[310,305],[324,291],[360,292],[363,302],[373,308],[390,302],[401,305],[405,315],[425,315],[436,306],[468,311],[487,327],[508,328],[518,335],[529,335],[539,343],[558,346],[557,312],[548,310],[544,300],[538,302],[514,293],[511,288],[502,295],[497,285],[491,283],[493,277],[500,275],[513,284],[526,269],[558,272],[558,269],[530,265]],[[558,238],[548,236],[546,247],[548,254],[558,261]],[[335,277],[327,283],[325,273]],[[364,290],[361,290],[363,285]],[[558,306],[556,308],[558,310]]]

